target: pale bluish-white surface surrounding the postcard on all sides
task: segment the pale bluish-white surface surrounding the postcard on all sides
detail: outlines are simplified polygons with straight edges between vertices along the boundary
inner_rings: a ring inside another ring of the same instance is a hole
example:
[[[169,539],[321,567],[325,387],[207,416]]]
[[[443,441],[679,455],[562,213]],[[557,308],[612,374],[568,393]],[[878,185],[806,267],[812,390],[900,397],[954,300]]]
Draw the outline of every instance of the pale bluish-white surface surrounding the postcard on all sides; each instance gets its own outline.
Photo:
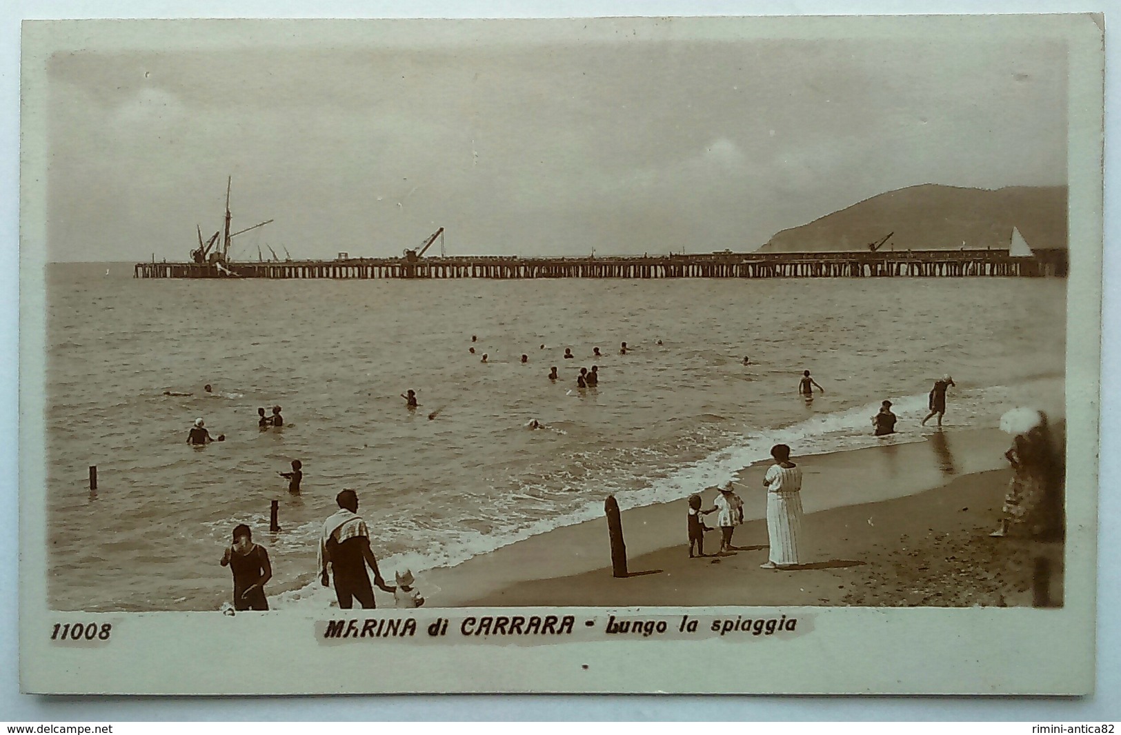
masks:
[[[1091,8],[1078,6],[1073,2],[1037,2],[1037,3],[990,3],[989,9],[1004,12],[1072,12],[1090,10]],[[1093,10],[1117,10],[1119,3],[1104,2],[1097,4]],[[756,12],[770,13],[835,13],[840,10],[836,3],[827,2],[804,2],[782,3],[767,2],[754,3],[752,9]],[[899,2],[860,2],[850,3],[844,8],[846,12],[964,12],[973,10],[969,3],[899,3]],[[359,10],[358,3],[333,3],[321,6],[313,13],[306,8],[296,4],[272,4],[267,11],[279,17],[298,16],[346,16],[354,15]],[[385,16],[392,12],[392,7],[388,3],[363,4],[361,10],[367,16]],[[426,6],[416,12],[430,16],[447,16],[452,10],[456,15],[470,17],[472,15],[499,15],[490,10],[482,3],[464,3],[454,9],[444,4],[434,3]],[[741,10],[736,3],[654,3],[646,7],[649,15],[677,13],[677,15],[733,15]],[[146,17],[157,15],[159,7],[150,3],[105,3],[100,8],[101,17]],[[573,15],[612,15],[627,12],[628,8],[622,3],[567,3],[560,7],[545,7],[527,4],[520,15],[522,16],[573,16]],[[17,424],[16,410],[16,361],[17,361],[17,253],[13,243],[17,241],[17,202],[18,202],[18,48],[19,48],[19,19],[21,17],[73,17],[80,12],[89,12],[78,3],[25,3],[22,7],[6,8],[3,10],[3,26],[0,32],[3,34],[3,43],[0,43],[0,64],[2,64],[2,96],[0,96],[0,130],[2,130],[2,160],[4,167],[0,174],[0,188],[3,190],[3,210],[0,211],[0,222],[3,223],[4,245],[0,246],[0,262],[7,268],[0,270],[0,278],[4,280],[0,287],[0,303],[4,309],[4,329],[0,337],[0,359],[8,368],[10,389],[0,394],[0,416],[8,419],[9,426]],[[241,16],[252,17],[266,12],[262,3],[207,3],[198,2],[194,4],[196,16]],[[510,15],[510,13],[507,13]],[[1115,52],[1108,45],[1109,59],[1115,57]],[[1109,74],[1108,74],[1109,77]],[[1112,86],[1112,85],[1111,85]],[[1108,100],[1108,117],[1114,110],[1112,100]],[[1109,133],[1108,133],[1109,134]],[[1110,158],[1108,150],[1108,160]],[[1110,211],[1111,190],[1109,179],[1106,180],[1106,207]],[[7,216],[3,216],[7,215]],[[1106,221],[1106,240],[1112,239],[1114,223]],[[1118,266],[1115,259],[1109,252],[1105,255],[1105,318],[1103,329],[1105,333],[1106,347],[1103,355],[1103,380],[1112,373],[1117,355],[1108,345],[1113,333],[1113,282],[1117,281]],[[1118,421],[1115,416],[1114,399],[1109,393],[1103,397],[1103,419],[1102,441],[1103,446],[1109,446],[1115,440]],[[3,466],[16,466],[16,446],[9,444],[3,449],[2,458],[7,462]],[[1111,539],[1115,537],[1119,529],[1119,503],[1115,494],[1111,494],[1108,489],[1113,485],[1117,477],[1118,467],[1115,459],[1110,453],[1105,453],[1102,460],[1102,486],[1106,489],[1101,499],[1100,506],[1100,538]],[[6,583],[3,588],[8,590],[17,589],[16,564],[18,553],[17,546],[17,502],[15,490],[15,477],[8,476],[2,481],[3,492],[2,505],[0,505],[0,517],[2,523],[9,531],[0,536],[3,539],[0,546],[0,556],[11,561],[0,568],[0,582]],[[1118,574],[1118,552],[1112,543],[1104,543],[1100,550],[1100,577],[1099,577],[1099,651],[1115,650],[1119,648],[1117,633],[1117,615],[1113,613],[1118,602],[1118,589],[1121,588]],[[824,718],[824,719],[847,719],[847,718],[883,718],[883,719],[1040,719],[1040,720],[1087,720],[1087,719],[1115,719],[1118,717],[1117,706],[1105,701],[1101,694],[1096,698],[1085,701],[1015,701],[1015,700],[906,700],[906,699],[821,699],[807,707],[804,700],[773,700],[762,698],[723,698],[719,700],[704,700],[697,698],[606,698],[606,697],[584,697],[581,698],[578,710],[571,708],[569,698],[426,698],[423,707],[410,698],[388,698],[377,699],[345,698],[345,699],[286,699],[277,701],[250,700],[200,700],[187,699],[46,699],[35,697],[21,697],[17,694],[18,683],[16,680],[17,652],[17,614],[16,596],[9,594],[3,604],[3,618],[0,623],[0,644],[2,644],[3,662],[0,667],[0,711],[7,717],[18,717],[27,720],[33,719],[232,719],[232,718],[307,718],[307,719],[335,719],[335,718],[558,718],[565,717],[567,713],[580,711],[581,718],[748,718],[748,719],[781,719],[781,718]],[[1119,683],[1119,671],[1114,660],[1099,660],[1097,691],[1109,692],[1117,690]]]

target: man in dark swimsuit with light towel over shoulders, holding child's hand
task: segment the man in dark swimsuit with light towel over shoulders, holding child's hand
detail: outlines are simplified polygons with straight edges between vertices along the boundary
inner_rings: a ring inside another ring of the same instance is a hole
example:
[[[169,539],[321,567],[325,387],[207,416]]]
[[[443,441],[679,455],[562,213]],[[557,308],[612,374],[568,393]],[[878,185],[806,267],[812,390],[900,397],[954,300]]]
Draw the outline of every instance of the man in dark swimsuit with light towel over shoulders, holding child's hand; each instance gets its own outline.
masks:
[[[374,585],[388,593],[392,593],[395,588],[386,585],[378,570],[378,559],[370,549],[370,531],[365,521],[358,515],[358,495],[353,490],[344,490],[335,497],[335,502],[340,510],[327,519],[323,527],[324,538],[319,543],[319,582],[324,587],[330,584],[330,566],[339,607],[351,610],[356,599],[363,608],[373,608],[377,605],[370,575],[365,571],[367,564],[373,570]]]

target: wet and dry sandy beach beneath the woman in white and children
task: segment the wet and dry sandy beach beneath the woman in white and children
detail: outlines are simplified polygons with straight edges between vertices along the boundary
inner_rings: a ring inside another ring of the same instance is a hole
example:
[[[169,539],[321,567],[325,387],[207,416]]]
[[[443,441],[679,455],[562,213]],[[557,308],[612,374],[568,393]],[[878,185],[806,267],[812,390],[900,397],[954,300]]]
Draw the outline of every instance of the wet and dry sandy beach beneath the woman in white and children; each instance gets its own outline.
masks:
[[[1007,435],[947,428],[900,438],[796,458],[806,477],[805,568],[759,568],[767,560],[761,464],[738,478],[748,520],[734,553],[688,558],[683,499],[623,512],[628,578],[612,577],[606,523],[596,520],[429,571],[428,598],[433,606],[1030,605],[1032,559],[1041,556],[1054,569],[1051,597],[1062,599],[1062,542],[988,536],[1010,477]],[[704,492],[706,505],[714,493]],[[706,533],[707,552],[719,539]]]

